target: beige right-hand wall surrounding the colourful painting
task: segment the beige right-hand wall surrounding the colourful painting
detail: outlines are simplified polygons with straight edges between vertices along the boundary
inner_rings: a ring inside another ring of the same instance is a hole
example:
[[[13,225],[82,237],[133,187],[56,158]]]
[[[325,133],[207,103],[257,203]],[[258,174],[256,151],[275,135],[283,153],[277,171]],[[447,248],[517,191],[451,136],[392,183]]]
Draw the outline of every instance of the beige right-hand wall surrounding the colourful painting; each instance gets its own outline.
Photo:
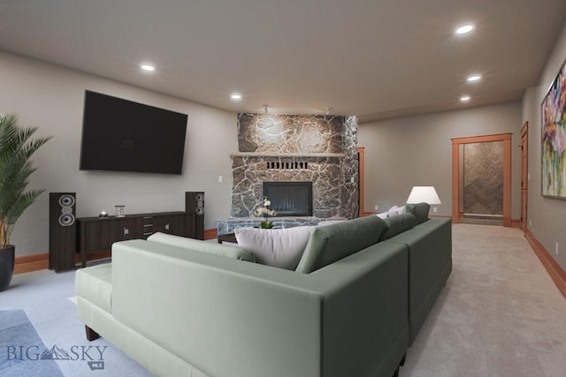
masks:
[[[548,87],[566,60],[566,23],[556,41],[555,49],[541,73],[539,87],[527,90],[523,98],[523,120],[529,122],[529,200],[527,225],[539,242],[544,245],[566,270],[566,200],[543,198],[540,189],[540,104]],[[558,243],[558,255],[555,244]]]

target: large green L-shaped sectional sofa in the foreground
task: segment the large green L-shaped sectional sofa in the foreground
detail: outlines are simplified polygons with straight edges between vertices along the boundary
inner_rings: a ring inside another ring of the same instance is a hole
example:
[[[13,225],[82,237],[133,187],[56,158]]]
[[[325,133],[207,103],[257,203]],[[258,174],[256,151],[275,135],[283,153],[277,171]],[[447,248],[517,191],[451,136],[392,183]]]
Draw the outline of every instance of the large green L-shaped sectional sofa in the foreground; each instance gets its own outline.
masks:
[[[410,269],[410,253],[439,253],[424,233],[450,236],[425,225],[388,239],[377,216],[315,227],[296,270],[188,238],[118,242],[111,263],[77,271],[77,313],[89,340],[156,375],[391,377],[449,274]],[[432,287],[414,303],[410,274]]]

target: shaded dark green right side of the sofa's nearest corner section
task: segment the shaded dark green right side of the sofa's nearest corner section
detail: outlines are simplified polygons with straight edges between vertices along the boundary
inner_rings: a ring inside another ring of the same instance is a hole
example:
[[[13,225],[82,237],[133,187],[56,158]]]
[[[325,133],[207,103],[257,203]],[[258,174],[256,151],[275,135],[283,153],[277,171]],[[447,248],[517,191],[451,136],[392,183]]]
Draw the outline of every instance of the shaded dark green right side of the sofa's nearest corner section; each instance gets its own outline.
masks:
[[[391,376],[409,347],[408,249],[378,243],[310,275],[325,290],[325,376]]]

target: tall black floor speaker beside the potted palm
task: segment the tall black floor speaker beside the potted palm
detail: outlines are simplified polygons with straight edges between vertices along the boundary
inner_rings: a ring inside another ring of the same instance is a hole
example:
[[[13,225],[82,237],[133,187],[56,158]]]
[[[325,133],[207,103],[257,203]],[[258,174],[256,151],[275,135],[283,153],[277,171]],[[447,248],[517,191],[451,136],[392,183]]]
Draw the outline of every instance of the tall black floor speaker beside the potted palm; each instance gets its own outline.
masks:
[[[76,252],[76,194],[50,192],[50,269],[73,269]]]

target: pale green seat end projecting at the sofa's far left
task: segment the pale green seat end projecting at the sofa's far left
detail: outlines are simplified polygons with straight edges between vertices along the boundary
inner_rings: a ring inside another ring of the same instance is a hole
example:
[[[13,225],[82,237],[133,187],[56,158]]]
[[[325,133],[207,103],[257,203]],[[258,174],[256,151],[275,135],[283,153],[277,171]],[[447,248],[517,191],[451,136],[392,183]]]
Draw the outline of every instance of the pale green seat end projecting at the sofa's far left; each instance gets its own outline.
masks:
[[[77,295],[111,313],[112,264],[80,268],[76,273]]]

